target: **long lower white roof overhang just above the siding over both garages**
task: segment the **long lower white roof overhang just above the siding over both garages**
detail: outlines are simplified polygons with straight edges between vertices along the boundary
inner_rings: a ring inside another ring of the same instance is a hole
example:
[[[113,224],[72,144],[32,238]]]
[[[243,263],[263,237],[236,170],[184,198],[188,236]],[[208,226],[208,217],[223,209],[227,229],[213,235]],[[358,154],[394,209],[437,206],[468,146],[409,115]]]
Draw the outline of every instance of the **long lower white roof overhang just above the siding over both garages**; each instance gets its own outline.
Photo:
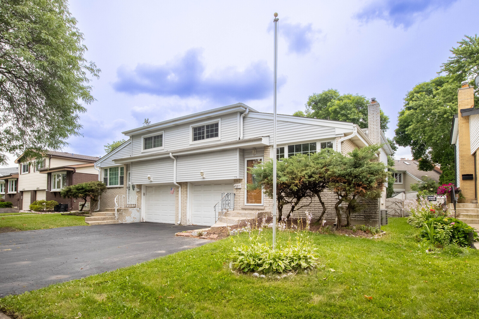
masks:
[[[190,155],[190,154],[207,153],[207,152],[225,150],[225,149],[231,149],[231,148],[264,147],[264,146],[269,146],[269,144],[270,144],[269,136],[260,136],[260,137],[246,139],[246,140],[238,140],[238,141],[219,143],[219,144],[213,144],[213,145],[189,147],[189,148],[180,149],[174,152],[158,152],[158,153],[151,153],[151,154],[145,154],[140,156],[124,157],[124,158],[114,159],[113,161],[115,164],[127,164],[131,162],[170,158],[170,153],[173,156]]]

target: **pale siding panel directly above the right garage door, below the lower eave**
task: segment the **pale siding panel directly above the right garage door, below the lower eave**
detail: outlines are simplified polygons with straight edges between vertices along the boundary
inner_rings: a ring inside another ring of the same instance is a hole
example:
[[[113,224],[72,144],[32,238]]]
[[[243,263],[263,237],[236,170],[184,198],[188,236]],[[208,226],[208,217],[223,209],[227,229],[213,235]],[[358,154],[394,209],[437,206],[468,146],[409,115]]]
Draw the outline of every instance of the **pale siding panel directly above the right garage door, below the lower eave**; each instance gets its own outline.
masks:
[[[207,180],[238,178],[238,151],[233,148],[214,153],[178,156],[176,165],[178,182],[205,180],[200,176],[200,171],[205,172]]]

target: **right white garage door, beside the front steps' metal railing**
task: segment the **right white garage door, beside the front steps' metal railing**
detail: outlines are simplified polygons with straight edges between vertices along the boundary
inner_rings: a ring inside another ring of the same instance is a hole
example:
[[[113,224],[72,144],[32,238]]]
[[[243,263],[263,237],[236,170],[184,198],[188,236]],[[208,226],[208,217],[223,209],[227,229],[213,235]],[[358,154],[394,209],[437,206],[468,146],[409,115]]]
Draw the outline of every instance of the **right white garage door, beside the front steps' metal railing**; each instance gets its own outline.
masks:
[[[215,223],[214,206],[221,199],[222,192],[233,192],[233,183],[201,184],[191,187],[192,224],[213,225]]]

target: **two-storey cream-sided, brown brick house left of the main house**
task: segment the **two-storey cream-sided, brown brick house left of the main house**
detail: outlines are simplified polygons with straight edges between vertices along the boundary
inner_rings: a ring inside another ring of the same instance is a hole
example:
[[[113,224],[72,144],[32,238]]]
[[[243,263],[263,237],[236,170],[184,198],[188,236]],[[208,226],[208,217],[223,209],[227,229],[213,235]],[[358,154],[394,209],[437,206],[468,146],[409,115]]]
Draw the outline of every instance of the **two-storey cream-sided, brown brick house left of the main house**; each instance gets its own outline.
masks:
[[[98,180],[98,170],[94,168],[98,159],[95,156],[56,151],[46,151],[41,160],[20,156],[15,160],[19,165],[19,208],[28,210],[32,202],[44,199],[68,204],[68,210],[78,210],[79,202],[83,200],[62,198],[60,191],[67,186]]]

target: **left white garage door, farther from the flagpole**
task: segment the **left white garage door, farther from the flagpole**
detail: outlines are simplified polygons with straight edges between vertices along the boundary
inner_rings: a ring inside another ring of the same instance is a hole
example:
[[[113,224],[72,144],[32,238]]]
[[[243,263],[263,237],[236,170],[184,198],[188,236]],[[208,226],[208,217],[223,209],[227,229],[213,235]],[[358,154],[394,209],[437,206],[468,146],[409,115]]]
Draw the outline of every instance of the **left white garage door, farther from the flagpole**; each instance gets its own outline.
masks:
[[[173,186],[148,186],[146,189],[145,221],[175,223],[175,195],[170,194]]]

